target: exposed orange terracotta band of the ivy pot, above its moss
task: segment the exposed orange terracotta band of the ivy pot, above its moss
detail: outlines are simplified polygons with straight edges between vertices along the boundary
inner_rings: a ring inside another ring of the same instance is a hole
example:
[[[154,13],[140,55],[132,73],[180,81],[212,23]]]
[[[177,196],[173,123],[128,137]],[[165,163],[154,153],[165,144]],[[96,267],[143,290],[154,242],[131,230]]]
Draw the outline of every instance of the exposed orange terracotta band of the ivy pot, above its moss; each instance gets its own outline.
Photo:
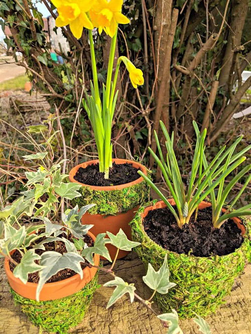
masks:
[[[95,236],[88,232],[88,235],[95,240]],[[94,255],[94,264],[99,265],[99,255]],[[8,281],[18,294],[25,298],[36,300],[36,290],[37,283],[27,282],[24,284],[19,278],[13,275],[13,272],[10,269],[10,262],[8,259],[5,259],[5,271],[7,274]],[[87,283],[89,283],[97,272],[96,268],[85,267],[83,269],[83,279],[80,278],[79,274],[66,278],[62,281],[45,283],[41,292],[40,300],[55,300],[63,298],[69,295],[74,294],[75,292],[81,290]]]

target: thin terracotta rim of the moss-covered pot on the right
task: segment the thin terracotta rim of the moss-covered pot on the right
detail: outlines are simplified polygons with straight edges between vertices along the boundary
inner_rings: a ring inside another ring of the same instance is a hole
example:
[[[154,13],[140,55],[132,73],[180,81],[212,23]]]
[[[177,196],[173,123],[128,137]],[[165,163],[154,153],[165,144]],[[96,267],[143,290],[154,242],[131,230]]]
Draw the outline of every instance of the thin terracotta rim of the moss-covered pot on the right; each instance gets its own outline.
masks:
[[[173,198],[169,198],[169,199],[167,199],[167,200],[168,200],[168,202],[169,202],[172,206],[175,205],[175,202],[174,202],[174,199],[173,199]],[[150,203],[152,203],[152,202],[150,202]],[[201,201],[201,203],[206,204],[206,207],[211,206],[211,202]],[[212,258],[212,257],[215,257],[215,256],[217,256],[217,257],[228,256],[228,255],[230,255],[230,254],[232,254],[232,253],[238,251],[238,250],[241,248],[243,242],[242,242],[242,244],[240,245],[240,247],[236,248],[236,249],[234,250],[234,252],[231,252],[231,253],[229,253],[229,254],[225,254],[225,255],[210,255],[210,256],[204,256],[204,257],[203,257],[203,256],[195,256],[195,255],[192,255],[192,254],[188,255],[188,254],[185,254],[185,253],[181,253],[181,254],[179,254],[179,253],[177,253],[177,252],[170,251],[170,250],[168,250],[168,249],[164,249],[162,246],[160,246],[159,244],[157,244],[154,240],[152,240],[152,239],[149,237],[149,235],[146,233],[146,231],[145,231],[145,229],[144,229],[144,226],[143,226],[143,219],[147,216],[148,212],[151,211],[151,210],[160,209],[160,208],[162,208],[162,205],[164,205],[164,206],[166,207],[166,204],[164,203],[164,201],[159,200],[159,201],[157,201],[155,204],[146,206],[146,207],[144,208],[144,211],[143,211],[142,213],[140,213],[140,218],[141,218],[141,224],[142,224],[142,229],[143,229],[144,234],[147,236],[147,238],[149,238],[149,239],[151,240],[151,242],[153,242],[154,244],[156,244],[157,246],[159,246],[159,247],[160,247],[161,249],[163,249],[164,251],[169,252],[169,253],[173,253],[173,254],[176,254],[176,255],[179,255],[179,256],[187,256],[187,257],[192,256],[192,257],[197,258],[197,259],[209,259],[209,258]],[[150,209],[150,208],[152,208],[152,209]],[[146,210],[148,210],[148,211],[146,212]],[[226,209],[223,208],[223,210],[226,210]],[[223,210],[222,210],[222,211],[223,211]],[[238,218],[238,217],[232,217],[231,219],[232,219],[233,222],[237,225],[237,227],[239,228],[239,230],[241,230],[241,235],[242,235],[242,237],[245,238],[244,234],[245,234],[245,232],[246,232],[246,228],[245,228],[245,226],[242,224],[241,219]]]

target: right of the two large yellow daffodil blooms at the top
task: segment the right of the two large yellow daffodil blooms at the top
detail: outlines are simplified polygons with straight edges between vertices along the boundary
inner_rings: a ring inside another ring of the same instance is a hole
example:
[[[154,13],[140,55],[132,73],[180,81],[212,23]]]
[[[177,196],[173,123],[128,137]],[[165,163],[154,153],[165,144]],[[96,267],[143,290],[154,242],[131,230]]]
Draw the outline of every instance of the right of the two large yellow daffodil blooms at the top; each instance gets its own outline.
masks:
[[[115,35],[117,25],[128,24],[130,20],[121,13],[123,0],[97,0],[89,12],[93,26],[110,37]]]

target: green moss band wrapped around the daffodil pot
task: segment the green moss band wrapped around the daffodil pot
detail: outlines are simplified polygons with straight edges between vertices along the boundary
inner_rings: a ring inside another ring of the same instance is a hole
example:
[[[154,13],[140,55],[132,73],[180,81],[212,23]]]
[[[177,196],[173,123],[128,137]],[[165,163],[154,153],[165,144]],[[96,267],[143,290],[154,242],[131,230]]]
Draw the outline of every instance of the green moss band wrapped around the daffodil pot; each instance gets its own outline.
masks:
[[[148,177],[151,178],[150,171],[148,171]],[[146,181],[142,181],[121,190],[99,191],[89,187],[81,187],[79,192],[82,197],[74,198],[72,200],[73,206],[78,204],[78,207],[81,208],[87,204],[95,203],[96,205],[88,211],[91,215],[116,215],[128,212],[148,201],[150,187]]]

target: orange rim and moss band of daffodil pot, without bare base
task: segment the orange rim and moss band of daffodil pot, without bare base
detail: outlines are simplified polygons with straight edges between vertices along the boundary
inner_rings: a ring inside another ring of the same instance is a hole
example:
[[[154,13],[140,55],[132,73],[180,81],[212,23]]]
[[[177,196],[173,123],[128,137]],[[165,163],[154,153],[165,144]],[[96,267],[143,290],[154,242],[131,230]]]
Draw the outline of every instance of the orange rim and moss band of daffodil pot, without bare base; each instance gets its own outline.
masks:
[[[112,159],[112,161],[117,164],[131,163],[135,168],[140,168],[145,175],[150,175],[145,166],[139,162],[126,159]],[[82,197],[75,198],[72,201],[74,205],[78,204],[81,208],[87,204],[95,203],[96,205],[89,210],[91,215],[116,215],[126,213],[148,200],[150,187],[142,177],[127,184],[108,187],[88,186],[74,179],[80,167],[86,168],[89,164],[95,163],[98,163],[98,160],[83,162],[70,171],[70,182],[82,185],[79,190]]]

